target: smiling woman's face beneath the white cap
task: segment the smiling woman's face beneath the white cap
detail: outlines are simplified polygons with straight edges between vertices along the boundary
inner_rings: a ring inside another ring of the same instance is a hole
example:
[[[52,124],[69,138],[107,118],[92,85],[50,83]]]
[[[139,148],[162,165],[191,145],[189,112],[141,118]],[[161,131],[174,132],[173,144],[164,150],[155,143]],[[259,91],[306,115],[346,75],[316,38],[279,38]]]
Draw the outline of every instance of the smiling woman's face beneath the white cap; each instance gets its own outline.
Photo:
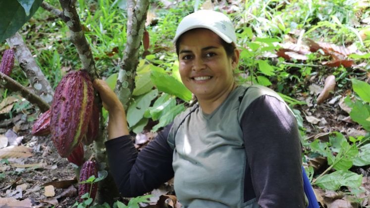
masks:
[[[198,98],[210,100],[229,93],[239,52],[228,57],[220,38],[208,29],[193,29],[180,37],[179,71],[184,85]]]

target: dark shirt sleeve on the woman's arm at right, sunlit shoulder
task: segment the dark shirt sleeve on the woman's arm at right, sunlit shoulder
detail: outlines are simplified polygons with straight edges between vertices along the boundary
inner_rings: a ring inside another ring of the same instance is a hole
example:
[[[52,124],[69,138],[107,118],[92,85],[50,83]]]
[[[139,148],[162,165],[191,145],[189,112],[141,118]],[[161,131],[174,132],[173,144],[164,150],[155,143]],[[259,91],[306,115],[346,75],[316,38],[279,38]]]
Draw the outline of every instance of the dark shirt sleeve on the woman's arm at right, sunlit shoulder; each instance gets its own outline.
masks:
[[[297,121],[287,106],[261,96],[241,120],[258,204],[262,208],[304,208],[301,144]]]

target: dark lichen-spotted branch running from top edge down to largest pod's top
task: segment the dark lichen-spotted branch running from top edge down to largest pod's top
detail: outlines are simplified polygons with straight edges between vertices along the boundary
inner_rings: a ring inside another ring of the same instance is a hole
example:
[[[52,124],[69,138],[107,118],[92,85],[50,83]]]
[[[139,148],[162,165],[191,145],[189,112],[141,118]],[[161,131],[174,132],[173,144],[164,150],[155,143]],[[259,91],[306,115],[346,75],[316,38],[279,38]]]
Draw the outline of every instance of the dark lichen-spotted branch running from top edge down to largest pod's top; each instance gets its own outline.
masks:
[[[70,40],[76,47],[83,68],[89,73],[90,78],[94,80],[98,75],[95,68],[93,53],[90,45],[87,43],[85,34],[82,31],[80,18],[77,14],[74,0],[59,0],[63,8],[66,24],[70,31]]]

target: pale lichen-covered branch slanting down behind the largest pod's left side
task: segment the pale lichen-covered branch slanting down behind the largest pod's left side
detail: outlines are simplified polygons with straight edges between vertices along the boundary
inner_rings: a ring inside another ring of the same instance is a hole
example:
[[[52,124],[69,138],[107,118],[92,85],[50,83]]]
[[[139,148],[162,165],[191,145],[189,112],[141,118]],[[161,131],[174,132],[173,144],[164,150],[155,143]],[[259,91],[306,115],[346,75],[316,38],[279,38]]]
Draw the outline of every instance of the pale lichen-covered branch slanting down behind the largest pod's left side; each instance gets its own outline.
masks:
[[[37,65],[30,50],[24,44],[19,33],[15,33],[12,37],[6,39],[10,47],[14,48],[15,57],[17,58],[20,67],[26,73],[26,76],[34,88],[36,95],[40,96],[46,103],[51,104],[53,101],[53,89],[49,81],[45,78],[44,73]]]

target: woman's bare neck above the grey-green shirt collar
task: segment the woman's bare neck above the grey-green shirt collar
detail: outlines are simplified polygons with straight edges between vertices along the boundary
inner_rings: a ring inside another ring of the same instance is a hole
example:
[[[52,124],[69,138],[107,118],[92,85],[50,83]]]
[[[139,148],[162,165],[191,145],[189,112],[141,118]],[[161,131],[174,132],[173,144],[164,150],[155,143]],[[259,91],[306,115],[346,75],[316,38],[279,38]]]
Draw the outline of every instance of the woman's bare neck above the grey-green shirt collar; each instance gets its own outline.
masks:
[[[211,114],[213,110],[215,110],[218,106],[220,106],[226,98],[229,96],[229,94],[237,87],[237,84],[233,82],[232,85],[228,89],[224,91],[224,93],[221,93],[217,97],[213,97],[210,99],[202,99],[198,98],[198,103],[202,108],[202,111],[206,114]]]

